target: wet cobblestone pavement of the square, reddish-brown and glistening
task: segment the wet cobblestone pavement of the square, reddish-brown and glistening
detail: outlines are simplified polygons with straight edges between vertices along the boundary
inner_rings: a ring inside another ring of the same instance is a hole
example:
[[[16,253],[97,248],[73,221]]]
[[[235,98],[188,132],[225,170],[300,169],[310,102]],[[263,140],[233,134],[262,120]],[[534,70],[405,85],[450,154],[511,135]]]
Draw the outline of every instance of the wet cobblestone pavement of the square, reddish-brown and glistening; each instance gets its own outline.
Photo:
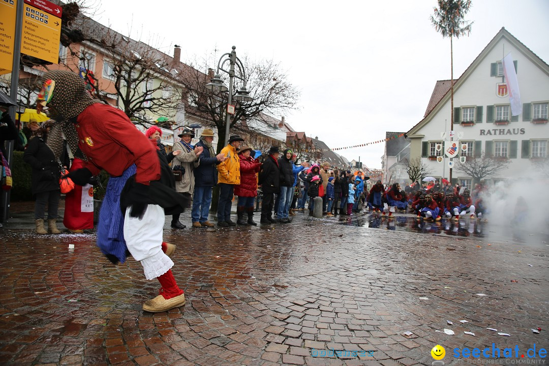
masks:
[[[166,226],[187,304],[151,314],[159,284],[139,263],[110,264],[93,230],[36,235],[32,205],[15,205],[0,230],[0,364],[410,366],[432,364],[436,344],[445,364],[472,361],[454,348],[549,348],[541,232],[401,214]],[[536,361],[520,354],[507,361]]]

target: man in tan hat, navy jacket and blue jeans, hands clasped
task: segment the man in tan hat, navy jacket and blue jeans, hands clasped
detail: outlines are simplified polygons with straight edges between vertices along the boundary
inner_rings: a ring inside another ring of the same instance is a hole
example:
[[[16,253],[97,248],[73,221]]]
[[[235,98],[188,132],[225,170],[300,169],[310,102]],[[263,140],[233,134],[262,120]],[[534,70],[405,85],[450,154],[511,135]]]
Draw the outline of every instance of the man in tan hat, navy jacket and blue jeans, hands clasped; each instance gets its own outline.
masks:
[[[217,184],[217,165],[225,161],[227,157],[222,153],[215,155],[212,142],[214,131],[205,128],[200,135],[200,141],[195,145],[204,150],[199,156],[200,164],[194,168],[194,194],[191,218],[193,228],[213,227],[208,221],[208,213],[211,205],[211,190]]]

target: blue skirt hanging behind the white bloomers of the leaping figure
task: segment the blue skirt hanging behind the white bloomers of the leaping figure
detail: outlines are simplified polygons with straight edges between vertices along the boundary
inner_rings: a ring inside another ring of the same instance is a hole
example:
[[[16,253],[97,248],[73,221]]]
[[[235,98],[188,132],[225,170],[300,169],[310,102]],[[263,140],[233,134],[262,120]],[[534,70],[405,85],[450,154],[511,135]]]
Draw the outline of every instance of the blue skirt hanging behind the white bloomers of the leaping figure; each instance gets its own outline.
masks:
[[[126,261],[127,247],[124,240],[124,215],[120,210],[120,193],[128,178],[135,173],[134,164],[122,176],[109,178],[97,223],[97,246],[103,254],[113,255],[121,263]]]

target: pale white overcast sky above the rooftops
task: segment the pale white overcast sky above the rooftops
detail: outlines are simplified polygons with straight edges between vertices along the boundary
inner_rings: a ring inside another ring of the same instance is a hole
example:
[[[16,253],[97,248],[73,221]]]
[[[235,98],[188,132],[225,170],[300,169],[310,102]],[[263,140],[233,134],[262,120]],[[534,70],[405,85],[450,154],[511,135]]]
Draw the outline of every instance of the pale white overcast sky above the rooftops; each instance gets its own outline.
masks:
[[[429,20],[435,6],[435,0],[104,0],[88,15],[169,55],[178,44],[182,61],[216,49],[219,58],[233,45],[239,56],[275,60],[301,91],[299,110],[286,121],[339,148],[406,132],[423,118],[435,82],[450,78],[450,40]],[[548,16],[548,0],[473,0],[466,16],[472,33],[453,43],[454,76],[501,27],[548,63]],[[380,168],[383,150],[380,143],[336,152]]]

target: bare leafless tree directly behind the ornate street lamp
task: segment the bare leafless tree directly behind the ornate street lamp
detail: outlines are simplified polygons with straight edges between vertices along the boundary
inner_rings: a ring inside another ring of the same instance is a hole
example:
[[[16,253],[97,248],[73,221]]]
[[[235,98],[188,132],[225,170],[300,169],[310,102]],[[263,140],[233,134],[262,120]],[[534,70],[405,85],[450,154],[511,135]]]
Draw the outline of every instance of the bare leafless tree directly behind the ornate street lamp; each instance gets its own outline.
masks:
[[[295,109],[299,98],[299,91],[288,81],[288,76],[280,70],[280,66],[273,61],[259,61],[252,63],[243,61],[247,67],[247,85],[252,102],[235,102],[234,115],[231,116],[230,128],[244,133],[264,133],[268,129],[276,128],[270,115],[283,115],[285,112]],[[205,88],[210,82],[212,72],[206,75],[197,69],[197,62],[183,66],[178,73],[178,82],[184,86],[185,112],[196,114],[205,120],[211,121],[211,126],[216,127],[219,140],[225,140],[226,110],[228,92],[214,94]],[[193,66],[194,65],[194,66]],[[207,66],[206,66],[207,67]],[[226,75],[222,75],[222,78]],[[228,80],[225,80],[228,85]],[[233,94],[242,87],[242,82],[236,79],[233,86]],[[234,95],[233,95],[234,96]],[[234,98],[233,98],[234,100]],[[254,123],[259,122],[259,123]],[[223,148],[217,145],[218,152]]]

